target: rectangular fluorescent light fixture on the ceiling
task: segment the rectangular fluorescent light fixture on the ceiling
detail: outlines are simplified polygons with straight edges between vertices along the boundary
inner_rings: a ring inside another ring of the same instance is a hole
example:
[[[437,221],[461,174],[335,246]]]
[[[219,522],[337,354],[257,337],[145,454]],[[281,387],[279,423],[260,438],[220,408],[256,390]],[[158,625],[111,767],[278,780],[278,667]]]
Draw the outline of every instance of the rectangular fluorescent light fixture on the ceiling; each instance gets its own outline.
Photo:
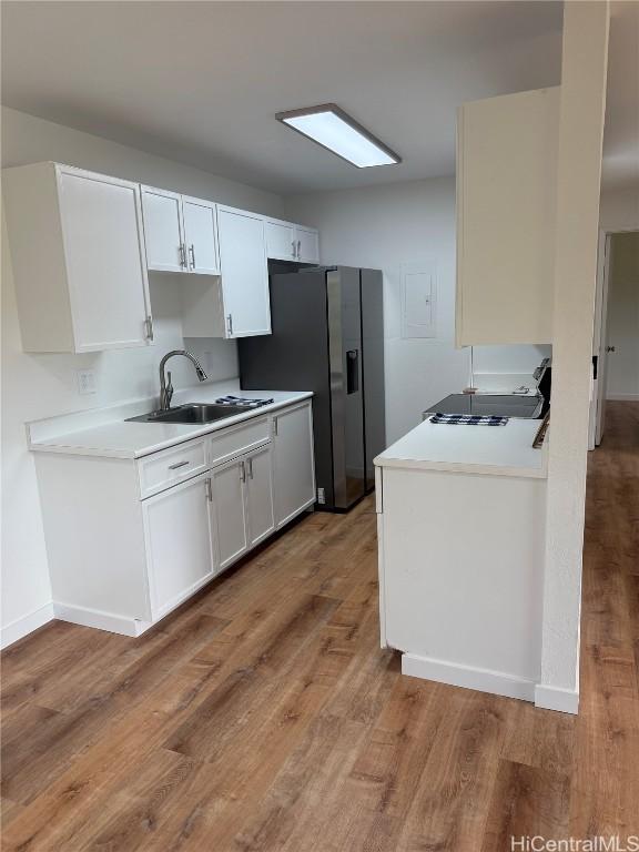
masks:
[[[358,169],[402,162],[402,158],[334,103],[278,112],[275,118]]]

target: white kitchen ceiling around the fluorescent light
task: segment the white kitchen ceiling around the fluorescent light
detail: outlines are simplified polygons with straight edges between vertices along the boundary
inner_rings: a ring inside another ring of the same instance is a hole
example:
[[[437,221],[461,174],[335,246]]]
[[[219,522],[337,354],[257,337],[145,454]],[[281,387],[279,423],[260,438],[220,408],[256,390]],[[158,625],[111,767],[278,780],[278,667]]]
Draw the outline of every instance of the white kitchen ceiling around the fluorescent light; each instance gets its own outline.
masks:
[[[559,82],[561,19],[521,0],[9,1],[2,103],[283,194],[438,176],[459,103]],[[274,119],[324,102],[403,163],[357,170]]]

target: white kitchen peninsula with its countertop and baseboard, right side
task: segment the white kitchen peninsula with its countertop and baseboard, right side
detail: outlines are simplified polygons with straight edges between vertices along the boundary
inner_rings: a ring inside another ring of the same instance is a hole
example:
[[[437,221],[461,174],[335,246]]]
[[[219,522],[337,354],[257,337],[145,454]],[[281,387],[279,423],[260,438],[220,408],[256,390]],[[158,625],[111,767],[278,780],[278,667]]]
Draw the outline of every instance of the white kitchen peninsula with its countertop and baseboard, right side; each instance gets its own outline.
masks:
[[[532,701],[541,663],[539,420],[425,420],[375,459],[382,646],[405,674]]]

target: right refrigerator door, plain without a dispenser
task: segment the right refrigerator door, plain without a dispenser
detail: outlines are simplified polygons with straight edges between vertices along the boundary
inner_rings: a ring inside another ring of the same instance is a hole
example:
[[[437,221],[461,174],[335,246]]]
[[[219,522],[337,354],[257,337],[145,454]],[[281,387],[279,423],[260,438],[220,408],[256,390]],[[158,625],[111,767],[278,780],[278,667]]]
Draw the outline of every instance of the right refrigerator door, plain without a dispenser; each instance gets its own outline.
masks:
[[[373,459],[386,449],[384,290],[379,270],[362,270],[362,364],[366,493],[375,487]]]

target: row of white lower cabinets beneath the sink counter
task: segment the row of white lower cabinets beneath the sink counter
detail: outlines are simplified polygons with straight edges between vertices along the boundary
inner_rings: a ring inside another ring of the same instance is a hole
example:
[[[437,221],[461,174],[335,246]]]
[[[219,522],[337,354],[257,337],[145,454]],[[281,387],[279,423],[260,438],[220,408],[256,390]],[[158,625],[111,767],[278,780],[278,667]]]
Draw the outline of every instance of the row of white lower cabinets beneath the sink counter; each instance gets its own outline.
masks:
[[[139,459],[36,465],[55,617],[139,636],[313,505],[311,402]]]

